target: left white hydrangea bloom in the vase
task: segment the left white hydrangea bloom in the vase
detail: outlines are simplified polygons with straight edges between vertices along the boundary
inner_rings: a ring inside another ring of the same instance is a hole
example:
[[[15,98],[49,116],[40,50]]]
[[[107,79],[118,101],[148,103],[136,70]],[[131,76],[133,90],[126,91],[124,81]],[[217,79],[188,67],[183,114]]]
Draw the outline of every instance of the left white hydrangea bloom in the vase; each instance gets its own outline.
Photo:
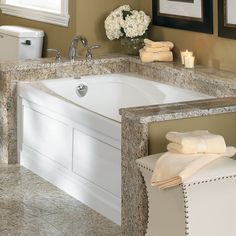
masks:
[[[121,31],[123,21],[123,11],[130,11],[129,5],[120,6],[112,11],[105,20],[106,35],[110,40],[119,39],[124,35]]]

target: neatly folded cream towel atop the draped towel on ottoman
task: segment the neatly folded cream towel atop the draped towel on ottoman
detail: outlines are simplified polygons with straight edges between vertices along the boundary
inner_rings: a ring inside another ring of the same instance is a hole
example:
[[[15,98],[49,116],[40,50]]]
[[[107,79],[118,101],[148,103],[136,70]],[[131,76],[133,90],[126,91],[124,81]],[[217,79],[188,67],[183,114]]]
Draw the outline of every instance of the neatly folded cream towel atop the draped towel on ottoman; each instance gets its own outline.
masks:
[[[197,130],[186,133],[169,132],[166,138],[172,142],[167,146],[167,150],[170,152],[183,154],[217,154],[226,151],[224,138],[221,135],[212,134],[207,130]]]

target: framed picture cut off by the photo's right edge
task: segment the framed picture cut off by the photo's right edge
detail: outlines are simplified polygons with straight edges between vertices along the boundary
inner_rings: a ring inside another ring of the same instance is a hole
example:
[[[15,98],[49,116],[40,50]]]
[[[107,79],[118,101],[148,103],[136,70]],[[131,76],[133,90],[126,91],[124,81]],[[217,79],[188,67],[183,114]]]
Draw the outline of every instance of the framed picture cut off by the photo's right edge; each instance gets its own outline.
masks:
[[[236,39],[236,1],[218,0],[218,34]]]

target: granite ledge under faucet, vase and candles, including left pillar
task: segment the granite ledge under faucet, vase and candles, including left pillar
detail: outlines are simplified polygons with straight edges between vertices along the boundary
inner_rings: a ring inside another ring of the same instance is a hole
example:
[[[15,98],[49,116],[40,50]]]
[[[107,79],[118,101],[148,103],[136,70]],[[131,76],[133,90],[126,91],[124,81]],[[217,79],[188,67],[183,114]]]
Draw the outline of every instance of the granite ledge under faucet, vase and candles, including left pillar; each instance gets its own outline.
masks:
[[[0,62],[0,162],[16,163],[16,83],[89,74],[133,72],[151,80],[216,97],[235,96],[236,74],[178,63],[144,64],[138,58],[110,55],[55,63],[54,59]]]

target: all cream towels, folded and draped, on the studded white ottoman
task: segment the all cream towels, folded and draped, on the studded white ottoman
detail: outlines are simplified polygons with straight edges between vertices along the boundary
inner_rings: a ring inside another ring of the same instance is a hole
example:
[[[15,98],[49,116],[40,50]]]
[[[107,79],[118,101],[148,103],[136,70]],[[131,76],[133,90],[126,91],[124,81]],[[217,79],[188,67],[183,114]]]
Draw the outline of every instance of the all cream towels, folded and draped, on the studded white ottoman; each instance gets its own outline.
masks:
[[[222,157],[233,157],[235,147],[226,147],[220,135],[207,130],[187,133],[169,132],[168,152],[156,162],[151,185],[160,189],[174,187],[199,169]]]

